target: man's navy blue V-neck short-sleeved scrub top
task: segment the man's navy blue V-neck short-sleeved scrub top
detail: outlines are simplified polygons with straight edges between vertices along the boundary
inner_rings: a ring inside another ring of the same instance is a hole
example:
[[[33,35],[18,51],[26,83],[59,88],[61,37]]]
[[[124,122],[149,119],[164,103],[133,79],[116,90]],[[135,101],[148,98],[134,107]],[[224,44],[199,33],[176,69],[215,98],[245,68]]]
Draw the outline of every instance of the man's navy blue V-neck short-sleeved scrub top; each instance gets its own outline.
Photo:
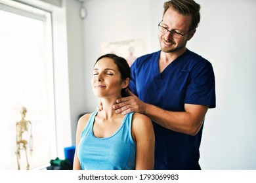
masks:
[[[145,103],[171,111],[184,104],[215,108],[215,76],[209,61],[186,50],[159,71],[160,52],[138,58],[131,66],[131,91]],[[154,124],[155,169],[200,169],[198,163],[202,129],[191,136]]]

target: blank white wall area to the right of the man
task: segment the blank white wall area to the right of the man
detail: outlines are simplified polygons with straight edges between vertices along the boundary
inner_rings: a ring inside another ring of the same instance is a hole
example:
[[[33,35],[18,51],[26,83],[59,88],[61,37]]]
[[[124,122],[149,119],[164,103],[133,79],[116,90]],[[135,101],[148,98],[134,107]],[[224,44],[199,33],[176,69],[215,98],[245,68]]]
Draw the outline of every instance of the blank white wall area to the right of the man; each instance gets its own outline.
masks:
[[[206,117],[204,169],[256,169],[256,1],[202,1],[202,22],[188,45],[213,63],[217,108]]]

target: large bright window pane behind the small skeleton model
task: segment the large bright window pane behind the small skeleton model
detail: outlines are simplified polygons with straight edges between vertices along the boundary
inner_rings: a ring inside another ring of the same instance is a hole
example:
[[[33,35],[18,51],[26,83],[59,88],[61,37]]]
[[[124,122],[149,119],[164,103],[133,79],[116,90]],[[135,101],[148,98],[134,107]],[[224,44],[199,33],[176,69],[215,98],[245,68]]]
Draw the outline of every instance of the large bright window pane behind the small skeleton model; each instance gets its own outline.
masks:
[[[20,150],[20,169],[26,169],[25,152],[30,169],[35,169],[56,158],[51,13],[6,2],[0,3],[0,169],[18,169],[16,123],[21,107],[26,107],[25,120],[32,124],[32,141],[24,139],[28,149]]]

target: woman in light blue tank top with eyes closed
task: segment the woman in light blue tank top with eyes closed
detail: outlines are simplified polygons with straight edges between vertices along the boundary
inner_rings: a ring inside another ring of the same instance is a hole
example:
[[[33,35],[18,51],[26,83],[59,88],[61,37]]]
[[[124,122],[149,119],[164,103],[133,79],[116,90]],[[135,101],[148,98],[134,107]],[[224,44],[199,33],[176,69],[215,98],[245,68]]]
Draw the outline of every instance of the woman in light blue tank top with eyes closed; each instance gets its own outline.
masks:
[[[154,129],[150,118],[117,114],[116,99],[127,96],[130,67],[114,54],[96,60],[91,84],[103,109],[79,119],[73,169],[154,169]]]

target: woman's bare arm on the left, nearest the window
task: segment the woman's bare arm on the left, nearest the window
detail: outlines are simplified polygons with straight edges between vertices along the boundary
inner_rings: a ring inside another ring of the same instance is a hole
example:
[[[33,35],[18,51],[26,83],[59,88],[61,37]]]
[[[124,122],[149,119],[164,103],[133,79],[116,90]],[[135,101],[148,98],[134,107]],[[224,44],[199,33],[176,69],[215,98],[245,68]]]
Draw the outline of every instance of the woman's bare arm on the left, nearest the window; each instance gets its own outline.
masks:
[[[81,132],[85,128],[85,125],[87,124],[91,114],[85,114],[83,115],[79,120],[77,124],[77,130],[76,130],[76,142],[75,142],[75,156],[74,156],[74,163],[73,163],[73,169],[74,170],[81,170],[80,161],[77,157],[77,147],[80,142]]]

